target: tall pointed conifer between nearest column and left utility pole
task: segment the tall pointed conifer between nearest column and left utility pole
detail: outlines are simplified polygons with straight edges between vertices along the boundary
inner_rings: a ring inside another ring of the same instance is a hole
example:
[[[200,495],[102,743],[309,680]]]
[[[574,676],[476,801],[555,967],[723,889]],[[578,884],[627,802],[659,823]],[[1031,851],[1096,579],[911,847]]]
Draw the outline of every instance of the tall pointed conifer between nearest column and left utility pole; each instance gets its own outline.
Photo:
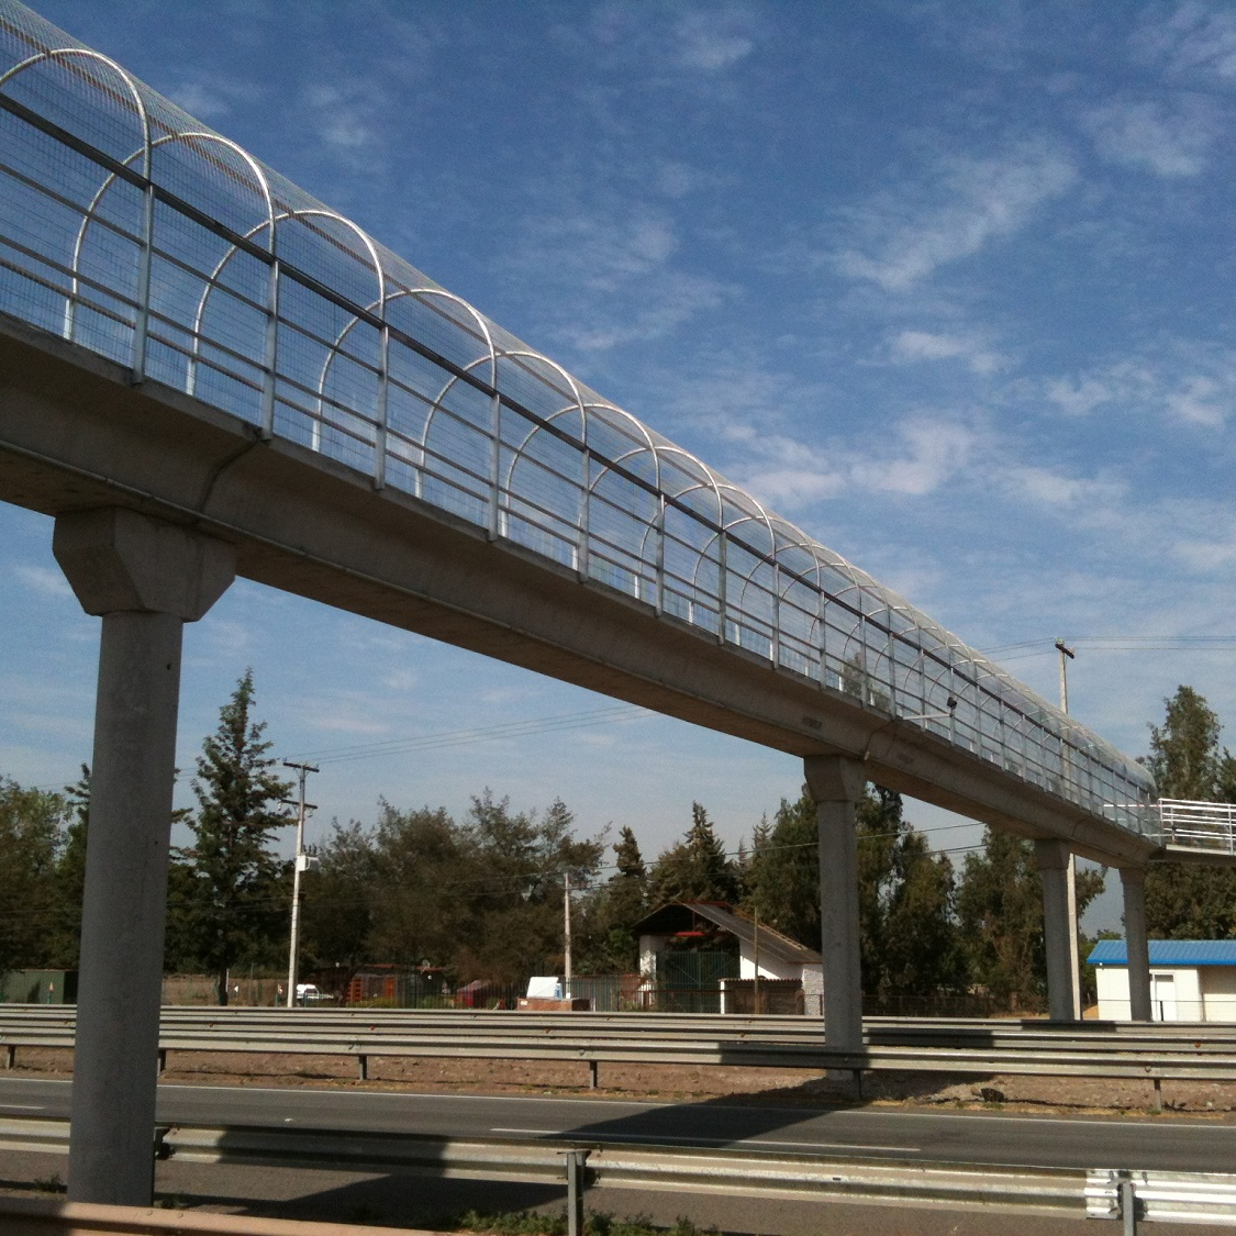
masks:
[[[279,896],[286,881],[272,843],[276,829],[290,823],[279,803],[292,784],[272,771],[266,723],[252,719],[252,708],[253,671],[246,670],[219,711],[219,728],[201,744],[193,781],[199,806],[188,822],[195,840],[184,852],[193,874],[185,927],[215,974],[222,1005],[227,971],[246,954],[269,955],[288,906]]]

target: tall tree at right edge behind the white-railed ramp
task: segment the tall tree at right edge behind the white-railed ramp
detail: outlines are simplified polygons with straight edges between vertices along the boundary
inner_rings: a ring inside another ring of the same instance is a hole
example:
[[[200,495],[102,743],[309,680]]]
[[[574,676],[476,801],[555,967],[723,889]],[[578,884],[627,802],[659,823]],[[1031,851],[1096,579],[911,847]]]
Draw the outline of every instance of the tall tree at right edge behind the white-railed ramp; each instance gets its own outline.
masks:
[[[1163,701],[1162,726],[1151,726],[1146,763],[1164,798],[1236,802],[1236,759],[1220,748],[1217,714],[1193,687]],[[1159,939],[1236,936],[1236,873],[1194,863],[1159,863],[1146,875],[1146,927]]]

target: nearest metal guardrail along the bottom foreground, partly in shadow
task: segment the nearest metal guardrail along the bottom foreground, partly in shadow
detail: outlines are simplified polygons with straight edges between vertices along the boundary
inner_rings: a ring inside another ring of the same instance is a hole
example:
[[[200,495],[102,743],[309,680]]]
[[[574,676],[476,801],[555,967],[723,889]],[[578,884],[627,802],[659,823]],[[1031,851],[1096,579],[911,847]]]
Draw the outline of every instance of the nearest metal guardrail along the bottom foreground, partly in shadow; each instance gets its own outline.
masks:
[[[574,1138],[441,1138],[412,1133],[177,1125],[158,1131],[157,1156],[189,1163],[227,1163],[357,1172],[450,1175],[572,1185],[656,1189],[744,1198],[803,1198],[933,1206],[981,1206],[1039,1214],[1236,1225],[1236,1175],[1080,1168],[1006,1168],[899,1159],[831,1159],[751,1148],[637,1147]],[[68,1122],[5,1117],[0,1149],[66,1153]],[[5,1211],[0,1201],[0,1219]],[[193,1232],[194,1216],[177,1215]],[[211,1219],[216,1216],[210,1216]],[[167,1231],[164,1225],[158,1231]],[[298,1230],[288,1225],[289,1231]],[[77,1225],[73,1231],[91,1231]],[[99,1227],[116,1231],[116,1226]],[[142,1232],[145,1229],[120,1230]],[[219,1230],[214,1227],[213,1230]],[[248,1230],[248,1229],[246,1229]],[[300,1229],[304,1230],[304,1229]]]

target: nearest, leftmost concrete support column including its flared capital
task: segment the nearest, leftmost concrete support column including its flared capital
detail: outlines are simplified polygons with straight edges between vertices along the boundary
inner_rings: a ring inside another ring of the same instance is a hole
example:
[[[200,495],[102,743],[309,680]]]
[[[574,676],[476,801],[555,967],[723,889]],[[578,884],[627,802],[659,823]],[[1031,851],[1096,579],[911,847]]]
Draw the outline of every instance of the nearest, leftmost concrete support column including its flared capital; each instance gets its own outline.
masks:
[[[235,561],[222,541],[111,508],[61,515],[53,550],[103,618],[69,1200],[148,1206],[182,635]]]

